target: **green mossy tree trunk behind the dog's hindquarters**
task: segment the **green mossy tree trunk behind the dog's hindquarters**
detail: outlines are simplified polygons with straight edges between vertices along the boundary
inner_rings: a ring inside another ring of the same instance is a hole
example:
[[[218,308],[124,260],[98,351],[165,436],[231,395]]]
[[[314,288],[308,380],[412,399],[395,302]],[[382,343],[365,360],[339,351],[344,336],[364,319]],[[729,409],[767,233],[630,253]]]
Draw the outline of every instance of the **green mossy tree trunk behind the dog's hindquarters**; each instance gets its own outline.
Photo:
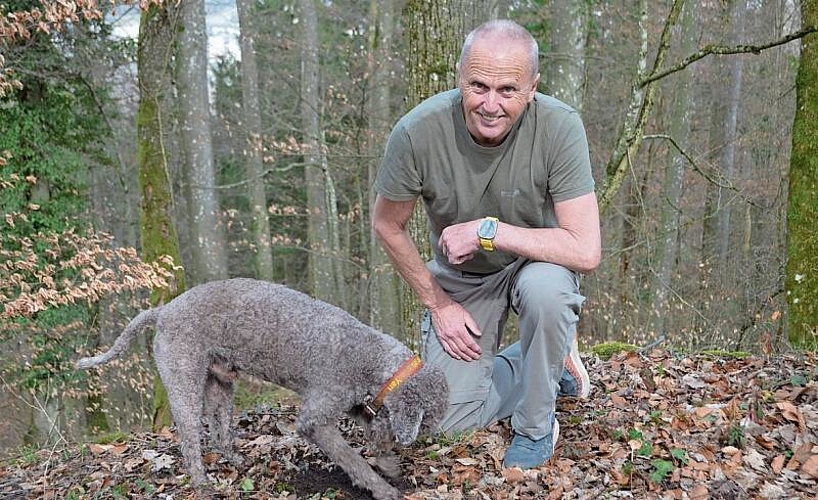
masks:
[[[153,262],[163,255],[169,255],[180,264],[179,244],[172,221],[173,197],[168,158],[164,147],[164,137],[169,133],[165,128],[168,122],[165,110],[169,108],[165,92],[170,88],[168,65],[170,41],[173,39],[172,9],[173,4],[162,7],[151,5],[139,19],[137,78],[140,94],[136,117],[141,194],[139,230],[143,260]],[[165,304],[184,290],[184,273],[176,270],[174,274],[174,286],[154,290],[151,304]],[[169,425],[171,417],[162,382],[158,376],[154,380],[153,427],[158,430]]]

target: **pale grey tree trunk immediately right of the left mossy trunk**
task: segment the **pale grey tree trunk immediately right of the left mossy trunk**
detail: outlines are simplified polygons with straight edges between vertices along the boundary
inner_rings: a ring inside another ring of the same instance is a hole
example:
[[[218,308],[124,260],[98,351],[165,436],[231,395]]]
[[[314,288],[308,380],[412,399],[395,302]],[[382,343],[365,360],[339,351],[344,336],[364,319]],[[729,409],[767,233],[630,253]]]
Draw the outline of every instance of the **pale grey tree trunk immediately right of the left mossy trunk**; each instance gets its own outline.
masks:
[[[177,88],[182,168],[190,217],[194,283],[227,277],[227,253],[213,165],[204,0],[179,3]]]

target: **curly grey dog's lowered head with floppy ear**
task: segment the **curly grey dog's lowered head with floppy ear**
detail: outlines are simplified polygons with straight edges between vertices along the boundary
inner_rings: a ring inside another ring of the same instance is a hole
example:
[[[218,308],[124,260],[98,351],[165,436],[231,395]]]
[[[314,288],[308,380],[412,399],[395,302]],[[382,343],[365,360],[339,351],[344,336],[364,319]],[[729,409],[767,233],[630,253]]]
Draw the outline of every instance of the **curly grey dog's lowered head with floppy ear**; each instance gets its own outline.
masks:
[[[376,435],[387,432],[398,443],[408,446],[419,434],[437,428],[448,404],[446,377],[439,368],[425,364],[386,396],[386,411],[371,422],[371,430]]]

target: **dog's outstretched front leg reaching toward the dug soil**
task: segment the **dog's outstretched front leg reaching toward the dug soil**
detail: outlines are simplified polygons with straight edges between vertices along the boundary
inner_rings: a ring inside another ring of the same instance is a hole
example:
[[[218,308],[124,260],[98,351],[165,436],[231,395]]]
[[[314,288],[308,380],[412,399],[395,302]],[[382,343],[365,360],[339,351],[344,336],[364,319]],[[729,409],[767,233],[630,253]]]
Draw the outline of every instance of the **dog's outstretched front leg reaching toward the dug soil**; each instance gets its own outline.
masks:
[[[399,500],[403,495],[376,473],[364,458],[353,450],[341,432],[335,427],[335,421],[324,417],[322,411],[310,408],[305,402],[296,421],[298,432],[309,439],[336,465],[346,472],[355,486],[372,492],[376,500]],[[313,418],[315,417],[315,418]]]

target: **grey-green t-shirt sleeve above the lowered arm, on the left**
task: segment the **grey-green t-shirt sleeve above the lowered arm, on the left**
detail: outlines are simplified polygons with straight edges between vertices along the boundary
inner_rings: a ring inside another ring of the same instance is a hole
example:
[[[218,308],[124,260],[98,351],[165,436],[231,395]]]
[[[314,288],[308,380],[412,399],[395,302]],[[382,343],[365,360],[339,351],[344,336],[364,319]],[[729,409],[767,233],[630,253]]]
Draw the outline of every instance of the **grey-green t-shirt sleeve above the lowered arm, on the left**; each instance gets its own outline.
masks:
[[[414,200],[421,192],[412,141],[400,122],[392,129],[386,142],[381,166],[375,178],[375,190],[392,201]]]

